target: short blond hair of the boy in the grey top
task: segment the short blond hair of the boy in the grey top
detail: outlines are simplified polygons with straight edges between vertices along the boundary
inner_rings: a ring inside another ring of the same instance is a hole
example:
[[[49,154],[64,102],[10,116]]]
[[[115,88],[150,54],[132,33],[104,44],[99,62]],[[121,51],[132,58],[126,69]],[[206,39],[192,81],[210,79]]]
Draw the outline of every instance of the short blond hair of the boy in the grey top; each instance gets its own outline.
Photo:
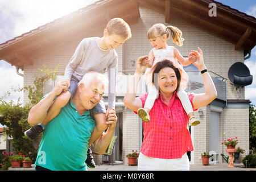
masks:
[[[120,35],[124,39],[131,38],[131,28],[128,23],[125,22],[122,18],[113,18],[106,25],[106,29],[109,32],[109,35]]]

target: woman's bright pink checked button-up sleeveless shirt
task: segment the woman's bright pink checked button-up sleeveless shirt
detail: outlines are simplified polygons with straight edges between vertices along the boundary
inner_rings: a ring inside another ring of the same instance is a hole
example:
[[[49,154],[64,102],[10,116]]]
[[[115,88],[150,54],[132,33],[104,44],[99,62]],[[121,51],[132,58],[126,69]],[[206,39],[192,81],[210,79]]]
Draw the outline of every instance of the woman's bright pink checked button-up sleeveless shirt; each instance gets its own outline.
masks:
[[[147,95],[148,93],[139,97],[143,107]],[[195,94],[188,93],[191,104],[194,96]],[[137,114],[136,111],[134,113]],[[191,135],[187,129],[188,115],[176,92],[169,106],[163,102],[162,95],[159,93],[149,114],[150,122],[143,122],[142,154],[152,158],[178,159],[185,152],[194,150]]]

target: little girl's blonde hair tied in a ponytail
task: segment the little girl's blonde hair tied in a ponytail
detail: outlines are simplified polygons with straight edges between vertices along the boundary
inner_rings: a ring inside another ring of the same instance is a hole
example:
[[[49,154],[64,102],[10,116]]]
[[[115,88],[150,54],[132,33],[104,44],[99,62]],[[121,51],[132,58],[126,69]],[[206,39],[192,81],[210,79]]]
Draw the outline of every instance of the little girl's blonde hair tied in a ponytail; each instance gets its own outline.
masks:
[[[182,38],[182,32],[179,28],[174,26],[165,26],[162,23],[154,24],[150,29],[147,31],[147,39],[155,39],[158,36],[162,36],[164,34],[167,35],[167,39],[170,38],[170,32],[172,36],[172,42],[177,44],[177,46],[182,46],[184,39]]]

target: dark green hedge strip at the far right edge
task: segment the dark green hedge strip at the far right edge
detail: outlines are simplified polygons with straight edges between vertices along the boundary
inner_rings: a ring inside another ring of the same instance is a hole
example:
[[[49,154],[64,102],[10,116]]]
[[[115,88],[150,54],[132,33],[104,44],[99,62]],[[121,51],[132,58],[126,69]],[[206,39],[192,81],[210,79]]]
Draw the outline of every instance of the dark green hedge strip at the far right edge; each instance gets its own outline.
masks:
[[[249,135],[250,148],[256,147],[256,109],[255,105],[249,106]]]

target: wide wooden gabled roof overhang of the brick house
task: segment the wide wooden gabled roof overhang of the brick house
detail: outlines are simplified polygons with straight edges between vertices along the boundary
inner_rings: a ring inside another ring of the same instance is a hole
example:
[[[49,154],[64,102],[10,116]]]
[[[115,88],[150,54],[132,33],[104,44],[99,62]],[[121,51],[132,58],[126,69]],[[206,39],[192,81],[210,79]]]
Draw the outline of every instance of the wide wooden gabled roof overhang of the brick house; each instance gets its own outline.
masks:
[[[210,17],[209,4],[217,6],[217,16]],[[242,48],[244,55],[256,42],[256,19],[213,0],[100,0],[80,10],[0,44],[0,59],[18,68],[33,64],[33,58],[85,32],[104,28],[112,18],[134,24],[140,17],[139,6],[147,7],[193,27],[208,32]],[[89,18],[88,18],[89,17]]]

